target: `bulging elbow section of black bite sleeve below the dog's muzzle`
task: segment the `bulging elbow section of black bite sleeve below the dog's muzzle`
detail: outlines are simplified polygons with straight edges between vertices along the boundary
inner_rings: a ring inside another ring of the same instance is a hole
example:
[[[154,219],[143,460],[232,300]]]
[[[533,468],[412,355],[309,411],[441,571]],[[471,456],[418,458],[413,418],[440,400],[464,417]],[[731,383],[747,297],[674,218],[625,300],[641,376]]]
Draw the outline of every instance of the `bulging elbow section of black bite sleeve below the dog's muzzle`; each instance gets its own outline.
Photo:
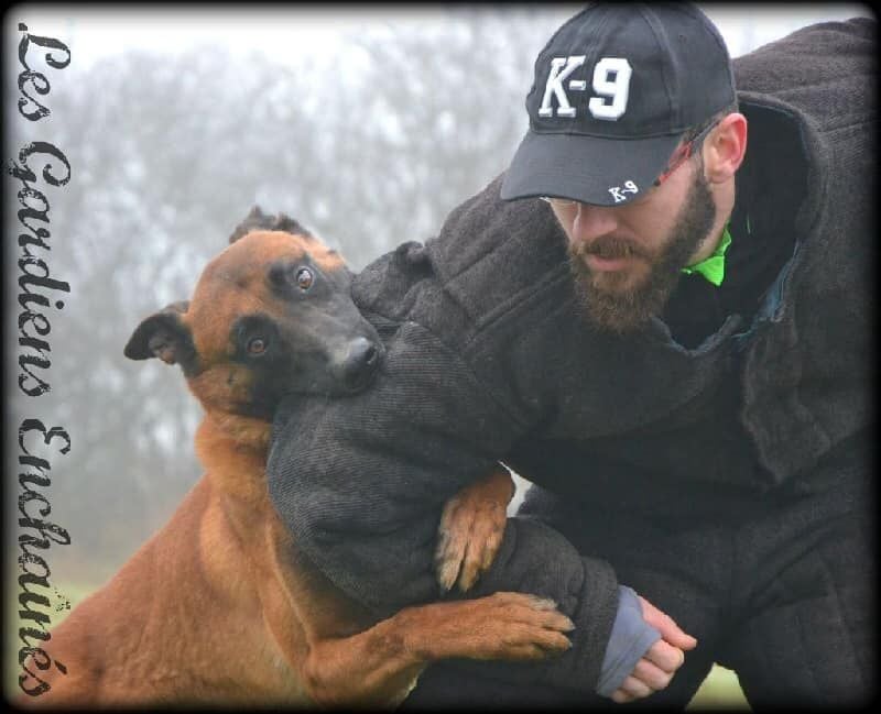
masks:
[[[442,505],[489,471],[511,431],[426,330],[404,323],[387,347],[368,391],[283,403],[268,463],[270,495],[297,547],[383,616],[438,595]]]

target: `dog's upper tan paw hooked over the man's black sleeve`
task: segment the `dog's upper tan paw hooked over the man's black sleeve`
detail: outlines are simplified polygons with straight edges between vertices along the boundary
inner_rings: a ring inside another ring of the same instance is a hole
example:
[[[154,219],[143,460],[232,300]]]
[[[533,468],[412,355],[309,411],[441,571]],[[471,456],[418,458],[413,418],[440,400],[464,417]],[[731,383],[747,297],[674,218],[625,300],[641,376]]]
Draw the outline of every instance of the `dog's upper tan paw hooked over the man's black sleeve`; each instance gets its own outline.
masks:
[[[448,591],[458,580],[468,591],[492,564],[504,535],[514,482],[501,464],[466,486],[444,506],[434,563],[437,582]]]

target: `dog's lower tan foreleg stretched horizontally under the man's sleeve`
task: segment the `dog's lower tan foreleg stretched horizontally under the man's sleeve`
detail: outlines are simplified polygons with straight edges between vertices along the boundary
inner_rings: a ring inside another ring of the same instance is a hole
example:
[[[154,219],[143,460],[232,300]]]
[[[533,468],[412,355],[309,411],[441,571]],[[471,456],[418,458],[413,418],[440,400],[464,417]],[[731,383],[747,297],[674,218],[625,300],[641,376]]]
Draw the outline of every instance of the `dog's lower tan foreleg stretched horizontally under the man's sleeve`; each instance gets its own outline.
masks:
[[[496,593],[407,607],[352,637],[315,642],[304,664],[319,704],[399,704],[424,667],[439,659],[534,660],[572,647],[574,628],[550,600]]]

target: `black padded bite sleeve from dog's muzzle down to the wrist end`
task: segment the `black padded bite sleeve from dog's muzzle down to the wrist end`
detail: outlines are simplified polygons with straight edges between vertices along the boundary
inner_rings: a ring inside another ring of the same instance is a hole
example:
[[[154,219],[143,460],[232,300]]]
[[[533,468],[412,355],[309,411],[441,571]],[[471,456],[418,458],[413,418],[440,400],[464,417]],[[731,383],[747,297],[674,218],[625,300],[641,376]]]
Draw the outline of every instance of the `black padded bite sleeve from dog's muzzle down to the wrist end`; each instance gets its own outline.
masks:
[[[380,617],[440,596],[433,550],[443,504],[486,474],[522,429],[421,326],[402,323],[387,345],[368,391],[283,404],[267,471],[296,547]],[[576,624],[573,648],[530,675],[592,692],[618,602],[611,568],[552,528],[513,518],[474,595],[499,590],[550,597]],[[499,671],[524,675],[513,664]]]

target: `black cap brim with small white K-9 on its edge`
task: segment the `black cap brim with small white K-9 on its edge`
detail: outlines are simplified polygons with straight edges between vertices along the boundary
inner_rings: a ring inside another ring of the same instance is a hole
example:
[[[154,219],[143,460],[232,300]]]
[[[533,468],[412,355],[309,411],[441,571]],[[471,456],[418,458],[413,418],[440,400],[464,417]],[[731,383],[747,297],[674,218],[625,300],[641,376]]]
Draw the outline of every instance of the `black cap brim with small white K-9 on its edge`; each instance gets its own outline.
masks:
[[[540,134],[530,129],[504,176],[501,197],[512,200],[553,196],[597,206],[622,206],[652,187],[679,138],[610,140]]]

